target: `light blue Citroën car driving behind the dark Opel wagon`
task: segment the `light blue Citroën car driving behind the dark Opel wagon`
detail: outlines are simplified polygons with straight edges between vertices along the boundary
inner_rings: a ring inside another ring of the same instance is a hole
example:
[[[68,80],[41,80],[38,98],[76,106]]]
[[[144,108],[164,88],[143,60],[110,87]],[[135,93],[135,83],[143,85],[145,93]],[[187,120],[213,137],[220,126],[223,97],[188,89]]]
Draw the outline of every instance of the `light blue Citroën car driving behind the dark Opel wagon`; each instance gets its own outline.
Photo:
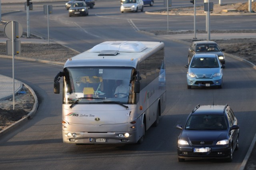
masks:
[[[222,88],[223,65],[217,54],[194,54],[187,72],[188,88],[192,86],[217,86]]]

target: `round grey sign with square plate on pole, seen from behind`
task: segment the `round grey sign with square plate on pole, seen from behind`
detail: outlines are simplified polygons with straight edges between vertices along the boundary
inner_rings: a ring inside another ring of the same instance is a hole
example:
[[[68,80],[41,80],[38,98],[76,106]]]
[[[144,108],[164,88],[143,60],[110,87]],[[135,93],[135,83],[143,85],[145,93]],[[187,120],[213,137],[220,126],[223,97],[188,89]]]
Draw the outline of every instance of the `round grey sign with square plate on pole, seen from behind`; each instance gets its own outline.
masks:
[[[12,92],[13,92],[13,110],[15,109],[15,94],[14,94],[14,55],[20,54],[20,41],[16,41],[22,36],[22,26],[16,21],[10,21],[4,26],[4,34],[9,41],[6,41],[6,52],[10,55],[10,46],[12,44]],[[9,50],[8,50],[9,49]]]

